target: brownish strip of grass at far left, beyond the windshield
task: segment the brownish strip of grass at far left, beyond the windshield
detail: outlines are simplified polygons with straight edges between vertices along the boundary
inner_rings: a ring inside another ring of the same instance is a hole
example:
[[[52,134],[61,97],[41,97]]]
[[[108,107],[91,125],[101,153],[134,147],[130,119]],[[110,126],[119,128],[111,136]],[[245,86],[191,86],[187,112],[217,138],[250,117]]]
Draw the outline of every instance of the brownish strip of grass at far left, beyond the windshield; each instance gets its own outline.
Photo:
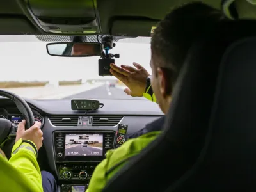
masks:
[[[22,87],[31,87],[31,86],[45,86],[48,84],[48,81],[28,81],[28,82],[19,82],[19,81],[1,81],[0,88],[22,88]]]

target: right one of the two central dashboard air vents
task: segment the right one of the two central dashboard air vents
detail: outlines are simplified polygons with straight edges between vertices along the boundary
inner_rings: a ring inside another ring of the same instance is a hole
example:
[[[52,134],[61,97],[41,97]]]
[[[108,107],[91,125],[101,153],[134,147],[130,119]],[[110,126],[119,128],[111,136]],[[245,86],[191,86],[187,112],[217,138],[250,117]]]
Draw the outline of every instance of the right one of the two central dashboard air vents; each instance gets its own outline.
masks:
[[[92,125],[96,126],[115,126],[117,125],[123,116],[93,116]]]

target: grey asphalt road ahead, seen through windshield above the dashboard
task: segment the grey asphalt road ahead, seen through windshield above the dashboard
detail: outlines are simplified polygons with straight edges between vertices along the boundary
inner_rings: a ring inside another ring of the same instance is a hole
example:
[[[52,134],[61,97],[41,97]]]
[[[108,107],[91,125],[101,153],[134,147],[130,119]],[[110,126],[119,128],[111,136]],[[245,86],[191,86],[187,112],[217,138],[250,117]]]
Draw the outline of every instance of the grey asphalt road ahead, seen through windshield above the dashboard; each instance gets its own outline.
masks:
[[[87,98],[87,99],[136,99],[136,100],[145,100],[144,97],[131,97],[124,92],[123,87],[109,87],[104,84],[97,88],[91,90],[77,93],[74,95],[69,95],[64,99],[73,99],[73,98]]]

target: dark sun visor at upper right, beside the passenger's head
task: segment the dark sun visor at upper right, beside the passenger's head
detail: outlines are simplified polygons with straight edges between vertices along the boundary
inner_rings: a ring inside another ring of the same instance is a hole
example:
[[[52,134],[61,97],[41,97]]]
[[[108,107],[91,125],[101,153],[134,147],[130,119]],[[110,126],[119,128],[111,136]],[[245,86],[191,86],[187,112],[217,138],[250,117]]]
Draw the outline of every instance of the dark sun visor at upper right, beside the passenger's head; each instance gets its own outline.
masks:
[[[116,19],[113,20],[110,35],[113,36],[152,36],[159,20]]]

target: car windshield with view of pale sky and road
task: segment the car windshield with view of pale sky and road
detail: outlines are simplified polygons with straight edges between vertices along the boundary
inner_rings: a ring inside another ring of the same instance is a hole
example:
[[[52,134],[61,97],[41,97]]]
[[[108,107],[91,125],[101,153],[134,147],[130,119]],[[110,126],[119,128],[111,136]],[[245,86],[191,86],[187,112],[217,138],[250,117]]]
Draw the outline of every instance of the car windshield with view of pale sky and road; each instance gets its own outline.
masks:
[[[42,42],[35,35],[0,36],[4,66],[0,88],[30,99],[144,99],[126,95],[126,86],[116,77],[99,76],[99,56],[50,56],[46,51],[47,43],[50,42]],[[60,46],[58,51],[63,52],[63,49],[65,47]],[[151,74],[150,38],[119,40],[109,52],[120,54],[120,58],[115,58],[116,65],[137,62]]]

